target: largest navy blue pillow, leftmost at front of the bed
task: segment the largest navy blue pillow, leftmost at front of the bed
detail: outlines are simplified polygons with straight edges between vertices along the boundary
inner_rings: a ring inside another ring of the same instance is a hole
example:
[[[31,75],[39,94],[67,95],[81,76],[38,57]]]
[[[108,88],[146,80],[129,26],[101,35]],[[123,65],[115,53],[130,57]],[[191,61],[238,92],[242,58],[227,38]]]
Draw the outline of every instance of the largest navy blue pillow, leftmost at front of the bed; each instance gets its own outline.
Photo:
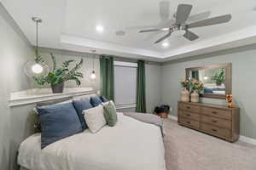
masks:
[[[41,122],[41,149],[57,140],[82,131],[79,116],[73,104],[38,106]]]

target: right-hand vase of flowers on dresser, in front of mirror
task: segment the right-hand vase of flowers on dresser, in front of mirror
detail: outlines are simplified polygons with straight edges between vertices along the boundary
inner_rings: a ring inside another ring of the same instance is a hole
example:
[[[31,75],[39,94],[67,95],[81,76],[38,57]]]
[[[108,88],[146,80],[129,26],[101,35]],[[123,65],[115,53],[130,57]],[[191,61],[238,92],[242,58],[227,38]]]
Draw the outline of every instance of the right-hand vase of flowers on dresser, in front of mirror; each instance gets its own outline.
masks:
[[[189,82],[189,88],[191,93],[191,102],[195,102],[198,103],[199,102],[199,94],[201,93],[201,91],[203,91],[204,89],[204,84],[201,81],[198,81],[196,79],[192,79]]]

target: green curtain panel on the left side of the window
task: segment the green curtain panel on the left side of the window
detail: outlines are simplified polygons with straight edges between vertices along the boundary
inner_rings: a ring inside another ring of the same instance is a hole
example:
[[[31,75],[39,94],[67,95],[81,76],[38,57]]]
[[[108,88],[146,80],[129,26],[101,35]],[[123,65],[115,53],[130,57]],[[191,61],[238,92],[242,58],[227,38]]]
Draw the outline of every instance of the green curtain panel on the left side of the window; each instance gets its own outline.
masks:
[[[113,100],[113,57],[101,56],[101,95]]]

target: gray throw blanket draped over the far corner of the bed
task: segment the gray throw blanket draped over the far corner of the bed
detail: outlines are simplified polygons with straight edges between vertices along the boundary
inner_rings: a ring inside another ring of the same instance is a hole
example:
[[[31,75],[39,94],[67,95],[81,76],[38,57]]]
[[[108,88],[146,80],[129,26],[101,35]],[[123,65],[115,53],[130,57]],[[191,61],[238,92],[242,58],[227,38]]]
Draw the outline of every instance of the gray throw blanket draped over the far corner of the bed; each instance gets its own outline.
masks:
[[[147,123],[154,124],[154,125],[160,127],[162,136],[164,137],[163,121],[159,116],[156,116],[153,114],[137,113],[137,112],[124,112],[124,115],[130,116],[134,119],[137,119],[138,121],[147,122]]]

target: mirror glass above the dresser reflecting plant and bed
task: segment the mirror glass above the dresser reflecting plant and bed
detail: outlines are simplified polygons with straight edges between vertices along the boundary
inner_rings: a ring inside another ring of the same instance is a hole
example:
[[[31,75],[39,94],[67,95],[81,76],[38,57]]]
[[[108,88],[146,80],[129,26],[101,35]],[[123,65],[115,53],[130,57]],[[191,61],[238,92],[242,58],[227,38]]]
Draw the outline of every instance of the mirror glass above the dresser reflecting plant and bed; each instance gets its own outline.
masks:
[[[225,95],[224,68],[190,71],[189,78],[194,78],[204,83],[204,94]]]

